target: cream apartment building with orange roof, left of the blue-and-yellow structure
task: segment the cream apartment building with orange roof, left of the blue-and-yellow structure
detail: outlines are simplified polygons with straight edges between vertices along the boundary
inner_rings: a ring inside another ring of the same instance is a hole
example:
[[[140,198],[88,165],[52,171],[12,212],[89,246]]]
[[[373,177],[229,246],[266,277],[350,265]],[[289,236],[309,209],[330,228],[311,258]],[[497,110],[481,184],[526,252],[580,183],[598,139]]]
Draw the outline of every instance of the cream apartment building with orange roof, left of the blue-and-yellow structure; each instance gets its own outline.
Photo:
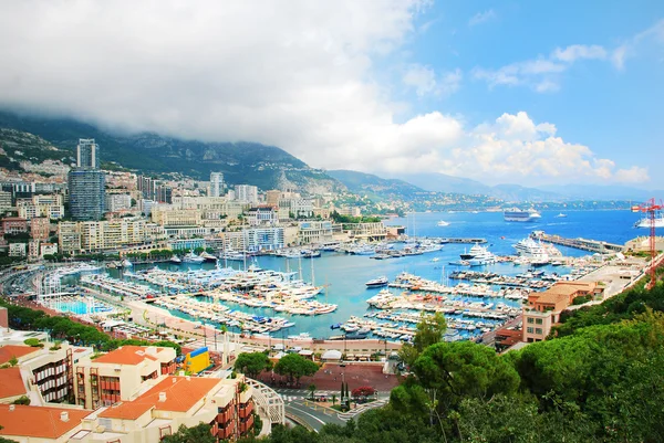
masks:
[[[86,409],[111,405],[134,398],[146,380],[175,371],[175,349],[123,346],[75,368],[76,404]]]

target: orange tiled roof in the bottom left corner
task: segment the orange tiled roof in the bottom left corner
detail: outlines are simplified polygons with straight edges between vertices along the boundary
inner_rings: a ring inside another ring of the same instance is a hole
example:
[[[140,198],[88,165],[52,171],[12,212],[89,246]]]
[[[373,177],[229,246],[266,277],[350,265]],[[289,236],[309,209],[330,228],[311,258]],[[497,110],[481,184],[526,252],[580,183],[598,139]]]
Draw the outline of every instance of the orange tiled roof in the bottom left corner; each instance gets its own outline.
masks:
[[[13,407],[13,411],[10,410]],[[66,412],[68,421],[60,414]],[[0,404],[0,435],[23,435],[39,439],[59,439],[76,428],[91,411],[81,409]]]

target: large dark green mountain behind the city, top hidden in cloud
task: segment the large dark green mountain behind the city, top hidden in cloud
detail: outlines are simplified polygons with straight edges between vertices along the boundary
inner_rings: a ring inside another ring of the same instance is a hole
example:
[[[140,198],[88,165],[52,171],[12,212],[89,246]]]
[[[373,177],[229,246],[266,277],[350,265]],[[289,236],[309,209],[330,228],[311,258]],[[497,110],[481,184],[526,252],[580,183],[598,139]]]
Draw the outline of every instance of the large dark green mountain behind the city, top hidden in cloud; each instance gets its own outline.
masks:
[[[343,184],[323,171],[274,146],[256,143],[203,143],[143,133],[122,135],[72,120],[18,116],[0,112],[0,128],[33,134],[73,152],[79,138],[94,138],[102,165],[117,164],[142,173],[179,172],[209,180],[224,172],[230,184],[251,183],[261,189],[298,188],[311,193],[342,190]]]

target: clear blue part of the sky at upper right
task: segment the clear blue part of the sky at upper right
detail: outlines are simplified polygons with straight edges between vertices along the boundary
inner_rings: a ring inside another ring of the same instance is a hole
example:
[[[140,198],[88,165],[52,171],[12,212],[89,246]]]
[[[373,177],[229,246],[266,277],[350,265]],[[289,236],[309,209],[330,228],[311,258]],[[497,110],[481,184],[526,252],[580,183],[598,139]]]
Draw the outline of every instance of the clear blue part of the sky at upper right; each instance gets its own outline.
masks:
[[[459,70],[463,80],[454,93],[400,93],[415,113],[458,113],[474,124],[525,110],[536,122],[554,124],[567,141],[618,164],[651,166],[651,182],[640,184],[662,189],[662,175],[652,166],[664,160],[663,19],[662,1],[436,2],[417,17],[417,32],[398,56],[437,73]],[[643,38],[622,68],[611,60],[577,60],[564,72],[533,76],[533,82],[549,77],[549,91],[538,92],[527,80],[491,85],[474,74],[550,60],[570,45],[600,45],[610,59],[657,23],[661,41]]]

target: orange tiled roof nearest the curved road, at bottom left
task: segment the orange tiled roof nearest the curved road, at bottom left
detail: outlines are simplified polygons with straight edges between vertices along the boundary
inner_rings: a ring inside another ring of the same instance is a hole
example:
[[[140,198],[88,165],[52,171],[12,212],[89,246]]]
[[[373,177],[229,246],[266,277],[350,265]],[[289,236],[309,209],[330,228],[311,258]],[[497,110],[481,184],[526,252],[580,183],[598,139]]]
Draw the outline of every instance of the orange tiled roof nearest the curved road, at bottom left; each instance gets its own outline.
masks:
[[[152,408],[186,412],[210,391],[216,391],[220,382],[220,379],[212,378],[166,377],[137,399],[106,409],[100,413],[100,418],[136,420]],[[166,394],[165,401],[159,401],[160,392]]]

